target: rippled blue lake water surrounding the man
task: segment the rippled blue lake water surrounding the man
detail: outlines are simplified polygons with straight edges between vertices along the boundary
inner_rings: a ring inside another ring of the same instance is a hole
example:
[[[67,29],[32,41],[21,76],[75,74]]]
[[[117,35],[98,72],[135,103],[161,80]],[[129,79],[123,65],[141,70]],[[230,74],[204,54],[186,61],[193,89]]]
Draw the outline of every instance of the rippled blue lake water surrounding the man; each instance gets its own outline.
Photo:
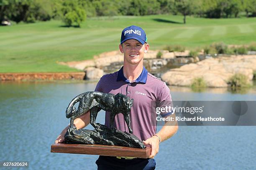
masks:
[[[0,82],[0,162],[28,161],[31,170],[97,169],[96,155],[50,153],[51,144],[69,123],[65,117],[69,102],[95,86],[96,82],[84,81]],[[242,94],[170,89],[173,100],[256,100],[255,86]],[[104,116],[101,111],[97,122],[104,124]],[[256,169],[255,141],[255,126],[180,126],[174,137],[161,143],[156,169]]]

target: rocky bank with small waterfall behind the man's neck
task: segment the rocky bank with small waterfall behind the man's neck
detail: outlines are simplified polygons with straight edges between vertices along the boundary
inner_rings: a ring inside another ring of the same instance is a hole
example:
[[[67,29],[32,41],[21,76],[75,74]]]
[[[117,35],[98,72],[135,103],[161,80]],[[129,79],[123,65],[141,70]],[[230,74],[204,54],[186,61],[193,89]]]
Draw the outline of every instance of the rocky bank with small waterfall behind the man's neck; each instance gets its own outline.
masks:
[[[161,56],[158,56],[158,53]],[[187,63],[199,61],[198,57],[189,57],[189,50],[184,52],[169,52],[168,50],[149,50],[144,55],[143,65],[151,72],[158,74],[162,70],[169,70],[180,67]],[[123,54],[119,50],[103,52],[100,55],[95,55],[92,60],[58,62],[61,65],[67,65],[78,70],[86,72],[87,80],[97,80],[102,75],[110,72],[115,72],[123,65]],[[160,77],[158,75],[158,77]]]

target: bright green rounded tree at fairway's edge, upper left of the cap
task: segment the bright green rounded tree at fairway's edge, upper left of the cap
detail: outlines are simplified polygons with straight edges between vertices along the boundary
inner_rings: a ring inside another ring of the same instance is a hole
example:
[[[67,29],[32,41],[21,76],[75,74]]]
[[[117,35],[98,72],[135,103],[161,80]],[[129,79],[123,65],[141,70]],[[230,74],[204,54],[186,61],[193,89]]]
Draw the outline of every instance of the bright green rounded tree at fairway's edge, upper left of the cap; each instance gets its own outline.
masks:
[[[86,19],[86,13],[78,0],[64,0],[62,6],[64,23],[68,27],[74,24],[77,24],[77,26],[80,27],[82,21]]]

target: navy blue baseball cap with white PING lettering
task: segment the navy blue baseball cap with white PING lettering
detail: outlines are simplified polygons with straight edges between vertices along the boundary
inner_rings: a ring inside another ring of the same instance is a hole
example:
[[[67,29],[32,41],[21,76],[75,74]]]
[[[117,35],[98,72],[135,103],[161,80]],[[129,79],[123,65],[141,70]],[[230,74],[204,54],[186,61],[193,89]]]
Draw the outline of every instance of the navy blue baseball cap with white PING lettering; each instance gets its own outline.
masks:
[[[145,42],[147,42],[145,31],[135,25],[123,29],[120,44],[123,44],[123,42],[130,39],[138,40],[141,44],[145,44]]]

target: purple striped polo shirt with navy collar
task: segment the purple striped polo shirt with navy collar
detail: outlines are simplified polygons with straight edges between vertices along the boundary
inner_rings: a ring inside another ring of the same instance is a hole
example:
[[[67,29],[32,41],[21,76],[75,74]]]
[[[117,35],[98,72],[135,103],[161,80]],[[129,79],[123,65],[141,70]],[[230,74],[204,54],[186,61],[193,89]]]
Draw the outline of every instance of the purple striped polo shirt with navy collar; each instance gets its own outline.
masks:
[[[141,140],[147,140],[156,134],[156,112],[152,112],[154,103],[160,102],[165,107],[166,102],[172,106],[172,98],[169,87],[166,83],[148,73],[145,67],[141,75],[130,82],[123,75],[123,67],[111,74],[103,75],[98,82],[95,91],[112,93],[122,93],[133,99],[133,107],[131,107],[130,119],[133,134]],[[162,117],[171,115],[172,112],[162,113]],[[110,127],[110,112],[106,111],[105,125]],[[129,132],[128,126],[125,123],[123,114],[115,116],[114,127]]]

